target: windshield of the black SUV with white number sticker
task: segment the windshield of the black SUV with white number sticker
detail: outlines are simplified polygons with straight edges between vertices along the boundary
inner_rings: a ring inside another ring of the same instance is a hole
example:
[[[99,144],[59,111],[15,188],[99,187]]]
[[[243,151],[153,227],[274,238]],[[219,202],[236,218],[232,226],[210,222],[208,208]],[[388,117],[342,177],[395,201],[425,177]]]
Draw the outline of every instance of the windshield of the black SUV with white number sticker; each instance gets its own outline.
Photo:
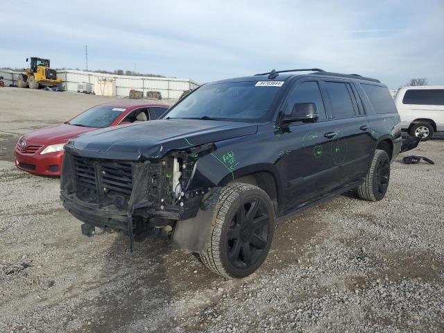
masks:
[[[273,84],[264,84],[268,82]],[[282,84],[282,81],[244,81],[204,85],[163,118],[260,121],[270,110]]]

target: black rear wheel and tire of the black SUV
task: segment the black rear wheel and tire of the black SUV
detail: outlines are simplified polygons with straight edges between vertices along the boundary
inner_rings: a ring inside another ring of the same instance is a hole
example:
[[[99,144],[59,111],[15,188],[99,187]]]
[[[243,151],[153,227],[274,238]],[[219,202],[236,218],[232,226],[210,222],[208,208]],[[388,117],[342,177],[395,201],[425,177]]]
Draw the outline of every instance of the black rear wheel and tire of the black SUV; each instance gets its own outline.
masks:
[[[357,188],[359,198],[368,201],[381,200],[386,195],[389,180],[390,158],[386,151],[377,149],[366,180]]]

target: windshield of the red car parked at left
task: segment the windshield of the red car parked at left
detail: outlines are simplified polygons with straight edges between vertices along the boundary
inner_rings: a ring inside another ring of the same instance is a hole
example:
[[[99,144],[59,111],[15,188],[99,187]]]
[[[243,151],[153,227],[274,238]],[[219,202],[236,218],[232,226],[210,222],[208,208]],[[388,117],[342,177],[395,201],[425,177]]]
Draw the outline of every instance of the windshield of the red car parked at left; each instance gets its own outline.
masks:
[[[124,108],[116,108],[114,106],[94,106],[94,108],[86,110],[69,121],[69,125],[99,128],[108,127],[125,110]]]

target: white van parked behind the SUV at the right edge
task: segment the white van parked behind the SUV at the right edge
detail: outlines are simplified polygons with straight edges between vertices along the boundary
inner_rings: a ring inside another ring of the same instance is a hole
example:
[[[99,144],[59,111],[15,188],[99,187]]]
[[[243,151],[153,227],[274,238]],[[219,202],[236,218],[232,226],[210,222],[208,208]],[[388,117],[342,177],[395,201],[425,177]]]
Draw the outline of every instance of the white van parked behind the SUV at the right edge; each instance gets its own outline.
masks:
[[[444,132],[444,87],[402,87],[395,95],[402,130],[422,141],[436,132]]]

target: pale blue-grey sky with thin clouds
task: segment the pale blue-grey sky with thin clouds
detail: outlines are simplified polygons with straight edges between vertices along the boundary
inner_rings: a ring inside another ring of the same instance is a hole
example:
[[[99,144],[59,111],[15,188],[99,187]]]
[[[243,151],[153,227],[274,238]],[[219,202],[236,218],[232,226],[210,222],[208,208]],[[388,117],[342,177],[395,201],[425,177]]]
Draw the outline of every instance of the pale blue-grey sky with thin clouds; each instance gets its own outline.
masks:
[[[0,67],[123,69],[198,83],[320,67],[444,85],[444,1],[1,1]],[[35,19],[34,19],[35,18]]]

